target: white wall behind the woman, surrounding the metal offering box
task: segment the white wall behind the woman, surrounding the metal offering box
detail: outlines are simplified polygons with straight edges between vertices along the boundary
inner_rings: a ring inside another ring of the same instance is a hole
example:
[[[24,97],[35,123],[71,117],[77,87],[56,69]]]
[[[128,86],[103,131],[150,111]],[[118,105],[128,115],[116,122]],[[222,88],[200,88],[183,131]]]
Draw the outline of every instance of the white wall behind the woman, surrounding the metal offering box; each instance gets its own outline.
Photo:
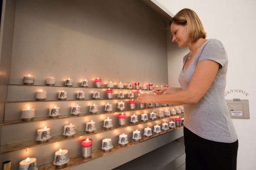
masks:
[[[230,93],[226,99],[248,99],[250,119],[232,119],[239,138],[237,158],[238,170],[256,169],[256,78],[255,78],[255,40],[256,40],[256,1],[254,0],[158,0],[163,6],[176,14],[180,9],[190,8],[202,20],[207,38],[216,38],[224,44],[229,57],[227,90],[238,89],[249,95]],[[170,45],[170,42],[168,43]],[[170,48],[175,48],[172,45]],[[170,49],[169,48],[169,49]],[[169,53],[169,84],[179,86],[177,77],[181,69],[182,57],[188,49],[177,49]],[[176,55],[179,53],[179,56]],[[171,63],[170,63],[171,62]],[[179,66],[177,66],[179,65]]]

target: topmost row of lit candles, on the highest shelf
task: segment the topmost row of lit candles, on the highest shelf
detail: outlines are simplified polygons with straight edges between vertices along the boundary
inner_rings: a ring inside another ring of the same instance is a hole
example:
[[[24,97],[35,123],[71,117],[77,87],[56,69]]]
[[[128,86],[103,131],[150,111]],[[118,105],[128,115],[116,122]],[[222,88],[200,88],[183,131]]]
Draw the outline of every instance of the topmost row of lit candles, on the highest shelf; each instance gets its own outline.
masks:
[[[24,77],[23,77],[23,83],[24,83],[24,84],[30,84],[30,85],[32,85],[32,84],[35,83],[35,78],[32,77],[30,74],[29,74],[29,76],[24,76]],[[101,83],[102,83],[102,79],[100,79],[100,78],[96,78],[96,79],[95,79],[95,86],[96,86],[97,88],[100,88],[100,87],[101,87]],[[54,85],[55,85],[55,78],[54,78],[54,77],[48,77],[48,78],[46,78],[45,84],[48,85],[48,86],[54,86]],[[65,86],[70,86],[70,87],[72,87],[72,86],[74,85],[73,80],[70,79],[70,78],[64,80],[64,85],[65,85]],[[81,81],[81,87],[89,87],[89,81],[86,80],[86,79],[85,79],[85,80],[82,80],[82,81]],[[114,87],[114,84],[112,83],[112,81],[110,81],[109,83],[107,83],[107,88],[113,88],[113,87]],[[139,90],[139,89],[140,89],[140,83],[134,83],[134,87],[135,87],[135,89],[138,89],[138,90]],[[165,87],[168,87],[168,85],[165,85]],[[123,84],[122,82],[118,83],[118,84],[117,84],[117,88],[118,88],[118,89],[123,89],[123,88],[124,88],[124,84]],[[132,84],[129,83],[129,84],[126,86],[126,88],[127,88],[127,89],[133,89]],[[152,84],[152,83],[148,84],[148,88],[147,88],[147,84],[146,84],[146,85],[144,84],[144,86],[142,86],[141,89],[142,89],[142,90],[147,90],[147,89],[148,89],[148,90],[152,90],[152,89],[153,89],[153,84]]]

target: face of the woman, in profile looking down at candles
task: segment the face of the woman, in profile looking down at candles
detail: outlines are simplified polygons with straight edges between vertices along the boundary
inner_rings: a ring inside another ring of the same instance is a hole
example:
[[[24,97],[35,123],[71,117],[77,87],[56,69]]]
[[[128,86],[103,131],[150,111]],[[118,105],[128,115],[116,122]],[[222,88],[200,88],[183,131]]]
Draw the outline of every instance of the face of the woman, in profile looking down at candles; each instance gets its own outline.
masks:
[[[171,24],[171,33],[173,34],[173,42],[176,42],[179,47],[187,46],[191,43],[189,34],[187,33],[188,26],[177,25],[175,23]]]

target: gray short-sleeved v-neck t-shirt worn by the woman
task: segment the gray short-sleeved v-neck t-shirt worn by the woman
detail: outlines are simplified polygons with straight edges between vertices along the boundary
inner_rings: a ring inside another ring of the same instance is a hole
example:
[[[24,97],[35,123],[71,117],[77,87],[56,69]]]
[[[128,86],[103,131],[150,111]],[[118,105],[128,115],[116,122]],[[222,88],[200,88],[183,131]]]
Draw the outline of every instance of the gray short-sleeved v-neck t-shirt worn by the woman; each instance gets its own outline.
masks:
[[[183,58],[183,66],[187,56]],[[186,71],[179,74],[182,90],[189,87],[189,82],[198,62],[213,60],[220,64],[218,72],[205,95],[196,104],[184,105],[184,126],[196,135],[216,141],[235,142],[237,133],[231,121],[224,92],[227,75],[227,54],[222,43],[215,39],[207,40],[199,49],[193,62]]]

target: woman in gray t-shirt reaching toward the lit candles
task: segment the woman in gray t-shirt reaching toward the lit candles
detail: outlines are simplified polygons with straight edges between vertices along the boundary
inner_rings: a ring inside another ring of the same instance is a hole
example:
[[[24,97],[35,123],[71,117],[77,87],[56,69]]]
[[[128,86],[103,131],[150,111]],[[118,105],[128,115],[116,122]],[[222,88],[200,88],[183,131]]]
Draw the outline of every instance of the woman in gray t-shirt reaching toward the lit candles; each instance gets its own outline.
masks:
[[[198,15],[180,10],[170,21],[173,42],[188,46],[179,75],[181,88],[156,87],[146,103],[183,105],[186,170],[235,170],[238,139],[224,98],[228,59],[222,43],[205,39]]]

